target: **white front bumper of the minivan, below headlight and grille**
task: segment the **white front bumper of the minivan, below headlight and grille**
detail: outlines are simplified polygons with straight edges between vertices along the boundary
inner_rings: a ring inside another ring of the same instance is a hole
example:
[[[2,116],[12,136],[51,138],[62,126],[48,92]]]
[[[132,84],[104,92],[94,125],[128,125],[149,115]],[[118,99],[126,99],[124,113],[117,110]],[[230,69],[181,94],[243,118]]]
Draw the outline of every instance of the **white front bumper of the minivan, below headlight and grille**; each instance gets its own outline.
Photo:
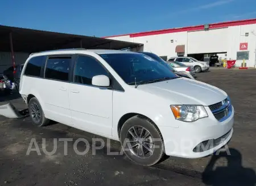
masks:
[[[219,122],[208,107],[207,118],[195,122],[179,122],[179,127],[159,126],[164,140],[165,152],[170,156],[181,158],[201,158],[213,154],[219,148],[225,146],[233,135],[234,108],[228,119]],[[200,150],[202,142],[204,149]]]

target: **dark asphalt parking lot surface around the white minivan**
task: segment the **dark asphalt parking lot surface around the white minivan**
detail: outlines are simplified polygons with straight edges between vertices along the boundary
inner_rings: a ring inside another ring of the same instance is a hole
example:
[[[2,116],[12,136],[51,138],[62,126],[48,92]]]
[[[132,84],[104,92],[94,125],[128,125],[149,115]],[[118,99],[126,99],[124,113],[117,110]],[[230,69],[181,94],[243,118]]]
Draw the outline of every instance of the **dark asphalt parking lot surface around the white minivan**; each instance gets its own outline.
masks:
[[[107,155],[121,151],[119,142],[112,140],[94,153],[92,138],[101,138],[96,135],[60,123],[35,127],[30,118],[0,117],[0,185],[256,185],[256,70],[221,69],[197,76],[197,80],[225,90],[232,100],[235,123],[228,144],[231,155],[170,157],[156,166],[143,167],[125,155]],[[15,93],[0,101],[11,101],[18,109],[24,107]],[[60,141],[63,138],[72,140],[67,142],[67,149]],[[76,144],[80,138],[89,144]],[[32,148],[38,144],[38,151],[26,155],[31,140],[36,142]],[[78,155],[74,146],[80,152],[89,151]],[[55,147],[52,155],[45,153]]]

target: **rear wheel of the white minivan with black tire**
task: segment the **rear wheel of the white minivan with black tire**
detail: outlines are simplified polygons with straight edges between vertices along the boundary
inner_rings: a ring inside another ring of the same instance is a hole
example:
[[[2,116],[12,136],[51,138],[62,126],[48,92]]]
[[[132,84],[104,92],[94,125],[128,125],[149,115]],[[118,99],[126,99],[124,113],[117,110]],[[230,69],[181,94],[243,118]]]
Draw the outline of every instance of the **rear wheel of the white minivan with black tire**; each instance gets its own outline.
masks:
[[[30,113],[32,122],[34,123],[35,126],[41,127],[49,124],[50,120],[44,117],[43,109],[39,104],[38,99],[36,99],[35,97],[31,98],[30,102],[28,103],[28,111]]]

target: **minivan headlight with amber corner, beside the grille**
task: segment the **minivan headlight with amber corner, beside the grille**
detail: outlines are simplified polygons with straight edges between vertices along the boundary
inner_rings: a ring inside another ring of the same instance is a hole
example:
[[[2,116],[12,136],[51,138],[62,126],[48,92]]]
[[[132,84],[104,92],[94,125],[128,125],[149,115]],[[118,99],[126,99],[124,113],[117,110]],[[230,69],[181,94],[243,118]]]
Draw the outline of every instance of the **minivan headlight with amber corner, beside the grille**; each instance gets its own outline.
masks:
[[[175,119],[185,122],[193,122],[200,118],[208,117],[207,111],[202,105],[171,105]]]

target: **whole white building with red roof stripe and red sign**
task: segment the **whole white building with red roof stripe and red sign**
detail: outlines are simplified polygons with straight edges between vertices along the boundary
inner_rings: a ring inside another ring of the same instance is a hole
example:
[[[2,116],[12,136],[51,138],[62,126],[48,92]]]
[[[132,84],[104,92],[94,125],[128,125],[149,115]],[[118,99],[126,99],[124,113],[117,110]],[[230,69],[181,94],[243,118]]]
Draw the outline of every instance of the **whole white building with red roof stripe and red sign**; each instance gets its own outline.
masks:
[[[241,65],[243,59],[246,60],[247,67],[256,65],[256,19],[104,38],[143,43],[143,47],[134,50],[153,52],[163,58],[184,55],[207,61],[211,54],[218,53],[222,59],[237,60],[237,65]]]

